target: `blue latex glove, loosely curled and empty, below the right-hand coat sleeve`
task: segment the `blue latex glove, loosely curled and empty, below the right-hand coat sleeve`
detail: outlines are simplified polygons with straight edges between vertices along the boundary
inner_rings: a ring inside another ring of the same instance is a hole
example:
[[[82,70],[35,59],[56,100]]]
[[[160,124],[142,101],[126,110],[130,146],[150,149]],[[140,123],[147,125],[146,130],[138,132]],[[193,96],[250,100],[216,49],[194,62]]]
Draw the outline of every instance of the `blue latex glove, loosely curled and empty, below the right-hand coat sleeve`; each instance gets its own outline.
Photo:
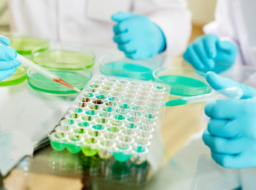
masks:
[[[203,35],[188,45],[183,57],[196,70],[202,72],[222,72],[236,61],[238,48],[229,41],[220,41],[214,34]],[[216,65],[229,63],[228,66]]]

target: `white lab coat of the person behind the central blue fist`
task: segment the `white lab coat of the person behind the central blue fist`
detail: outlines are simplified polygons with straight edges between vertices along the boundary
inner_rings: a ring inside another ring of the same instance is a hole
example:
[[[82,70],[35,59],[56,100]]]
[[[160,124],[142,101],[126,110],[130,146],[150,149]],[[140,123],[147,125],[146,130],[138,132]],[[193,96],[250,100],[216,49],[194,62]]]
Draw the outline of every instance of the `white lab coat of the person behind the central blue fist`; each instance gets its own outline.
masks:
[[[112,40],[114,23],[88,18],[88,1],[9,0],[10,29],[44,35],[59,41],[116,47]],[[116,0],[101,1],[105,4],[108,1],[116,8]],[[150,20],[162,29],[166,36],[166,51],[170,55],[178,55],[186,48],[191,33],[191,13],[185,0],[123,1],[126,1],[126,4],[128,1],[128,11],[149,16]],[[102,10],[100,3],[98,6]]]

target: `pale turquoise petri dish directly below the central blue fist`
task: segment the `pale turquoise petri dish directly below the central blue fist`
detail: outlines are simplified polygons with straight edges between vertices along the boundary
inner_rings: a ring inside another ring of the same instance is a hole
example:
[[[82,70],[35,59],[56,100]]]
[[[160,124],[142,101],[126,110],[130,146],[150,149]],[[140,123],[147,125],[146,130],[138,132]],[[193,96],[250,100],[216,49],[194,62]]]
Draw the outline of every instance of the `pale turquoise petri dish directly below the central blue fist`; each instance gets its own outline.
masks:
[[[121,53],[105,55],[99,61],[102,74],[138,80],[151,80],[152,72],[157,68],[156,63],[151,59],[133,60]]]

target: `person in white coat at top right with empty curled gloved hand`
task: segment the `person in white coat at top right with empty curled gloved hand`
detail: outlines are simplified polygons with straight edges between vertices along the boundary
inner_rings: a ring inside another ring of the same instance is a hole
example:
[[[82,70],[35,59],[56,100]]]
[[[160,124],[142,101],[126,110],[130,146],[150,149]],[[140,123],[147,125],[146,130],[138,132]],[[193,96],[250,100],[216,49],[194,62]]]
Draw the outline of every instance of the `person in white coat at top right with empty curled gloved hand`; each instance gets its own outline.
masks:
[[[184,59],[196,69],[214,71],[216,62],[256,66],[256,1],[218,0],[215,20],[192,42]]]

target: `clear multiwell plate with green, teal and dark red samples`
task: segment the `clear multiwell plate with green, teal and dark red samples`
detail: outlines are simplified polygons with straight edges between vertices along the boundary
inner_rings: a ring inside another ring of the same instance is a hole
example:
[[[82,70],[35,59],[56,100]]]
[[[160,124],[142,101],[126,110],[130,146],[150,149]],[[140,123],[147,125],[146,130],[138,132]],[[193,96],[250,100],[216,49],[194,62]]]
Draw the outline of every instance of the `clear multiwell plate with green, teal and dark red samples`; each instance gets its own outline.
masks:
[[[84,90],[90,97],[80,94],[48,135],[52,147],[144,163],[165,110],[151,106],[168,100],[170,86],[96,75]]]

